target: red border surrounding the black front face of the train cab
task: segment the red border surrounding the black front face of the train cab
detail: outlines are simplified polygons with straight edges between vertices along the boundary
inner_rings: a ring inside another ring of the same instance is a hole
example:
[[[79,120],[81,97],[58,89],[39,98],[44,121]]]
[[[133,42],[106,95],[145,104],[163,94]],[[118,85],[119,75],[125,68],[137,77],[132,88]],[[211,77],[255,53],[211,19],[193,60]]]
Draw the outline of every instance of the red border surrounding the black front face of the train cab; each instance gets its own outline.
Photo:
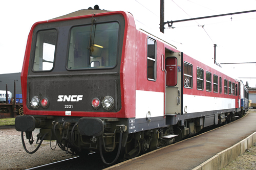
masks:
[[[72,111],[72,116],[135,117],[136,46],[134,45],[134,43],[131,43],[131,42],[136,41],[135,22],[134,22],[133,16],[130,13],[125,13],[123,11],[99,13],[99,14],[95,14],[94,17],[103,16],[103,15],[113,15],[113,14],[120,14],[125,19],[125,31],[124,31],[123,49],[122,49],[122,62],[121,62],[121,67],[120,67],[122,108],[118,112]],[[30,51],[31,51],[31,41],[32,41],[32,34],[33,34],[34,28],[37,25],[39,25],[40,23],[73,20],[73,19],[89,18],[89,17],[91,17],[91,15],[41,21],[41,22],[36,22],[32,26],[31,31],[28,36],[28,42],[27,42],[27,46],[26,46],[23,69],[22,69],[22,74],[21,74],[23,106],[24,106],[25,114],[65,116],[65,111],[40,111],[40,110],[29,110],[27,108],[27,78],[28,78],[29,58],[30,58]],[[132,71],[134,72],[134,74],[131,74]]]

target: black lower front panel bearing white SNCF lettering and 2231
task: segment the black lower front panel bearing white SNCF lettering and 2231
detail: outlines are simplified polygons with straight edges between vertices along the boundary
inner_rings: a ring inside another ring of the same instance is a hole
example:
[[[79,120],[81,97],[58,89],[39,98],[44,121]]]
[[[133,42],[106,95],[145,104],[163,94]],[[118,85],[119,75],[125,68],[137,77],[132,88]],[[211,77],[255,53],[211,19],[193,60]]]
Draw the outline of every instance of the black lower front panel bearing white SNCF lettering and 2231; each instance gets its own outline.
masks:
[[[33,110],[29,102],[33,96],[38,96],[40,100],[47,98],[49,107],[36,110],[96,111],[92,100],[98,98],[101,102],[104,96],[110,95],[117,102],[117,108],[111,111],[117,112],[121,109],[119,82],[119,75],[115,74],[29,77],[28,108]],[[103,112],[104,109],[99,107],[97,111]]]

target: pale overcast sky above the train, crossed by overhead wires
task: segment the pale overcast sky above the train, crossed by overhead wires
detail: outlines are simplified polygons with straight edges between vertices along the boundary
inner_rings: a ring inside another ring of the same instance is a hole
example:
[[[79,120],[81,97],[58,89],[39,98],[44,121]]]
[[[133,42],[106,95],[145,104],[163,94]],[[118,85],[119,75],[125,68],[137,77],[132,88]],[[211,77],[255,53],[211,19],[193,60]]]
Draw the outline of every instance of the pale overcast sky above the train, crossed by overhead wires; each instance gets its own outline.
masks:
[[[249,11],[256,0],[165,0],[164,21]],[[99,5],[100,9],[131,12],[146,27],[159,31],[160,0],[110,1],[4,1],[0,6],[0,74],[21,72],[29,31],[33,23]],[[256,62],[256,12],[165,25],[164,36],[181,52],[205,63]],[[256,64],[222,65],[237,77],[256,77]],[[256,87],[256,79],[242,79]]]

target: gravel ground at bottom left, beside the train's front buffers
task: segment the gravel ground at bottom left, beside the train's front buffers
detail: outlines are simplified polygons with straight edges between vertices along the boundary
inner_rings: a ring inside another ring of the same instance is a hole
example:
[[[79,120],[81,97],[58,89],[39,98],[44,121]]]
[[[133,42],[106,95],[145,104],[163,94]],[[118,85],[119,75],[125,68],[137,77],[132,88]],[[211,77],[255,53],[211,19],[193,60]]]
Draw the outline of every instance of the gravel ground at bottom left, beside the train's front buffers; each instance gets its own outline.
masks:
[[[38,132],[37,129],[35,131]],[[75,157],[66,154],[58,146],[55,150],[51,150],[50,141],[43,141],[37,152],[28,154],[23,148],[20,134],[15,129],[0,129],[0,169],[27,169]],[[37,134],[33,133],[35,141],[32,145],[28,143],[26,136],[24,137],[29,151],[33,151],[37,147]],[[55,144],[56,142],[52,141],[52,148],[55,148]]]

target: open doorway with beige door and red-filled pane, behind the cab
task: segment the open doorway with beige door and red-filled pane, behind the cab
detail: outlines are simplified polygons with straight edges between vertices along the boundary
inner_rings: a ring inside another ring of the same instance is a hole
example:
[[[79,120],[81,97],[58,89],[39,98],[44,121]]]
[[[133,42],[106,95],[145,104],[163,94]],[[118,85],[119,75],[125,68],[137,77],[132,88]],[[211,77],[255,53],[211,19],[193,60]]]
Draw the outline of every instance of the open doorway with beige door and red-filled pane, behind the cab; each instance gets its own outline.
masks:
[[[165,49],[165,113],[182,114],[182,56]]]

